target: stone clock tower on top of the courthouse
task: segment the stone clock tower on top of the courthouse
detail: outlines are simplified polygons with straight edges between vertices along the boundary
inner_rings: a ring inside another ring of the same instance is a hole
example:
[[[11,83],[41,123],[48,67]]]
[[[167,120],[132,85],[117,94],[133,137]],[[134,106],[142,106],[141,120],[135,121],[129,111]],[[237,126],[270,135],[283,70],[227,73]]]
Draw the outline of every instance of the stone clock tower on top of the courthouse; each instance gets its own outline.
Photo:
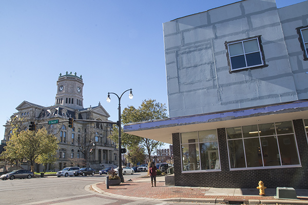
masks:
[[[55,105],[63,105],[72,109],[83,109],[83,80],[77,73],[72,74],[66,71],[65,75],[60,73],[56,81],[57,91]]]

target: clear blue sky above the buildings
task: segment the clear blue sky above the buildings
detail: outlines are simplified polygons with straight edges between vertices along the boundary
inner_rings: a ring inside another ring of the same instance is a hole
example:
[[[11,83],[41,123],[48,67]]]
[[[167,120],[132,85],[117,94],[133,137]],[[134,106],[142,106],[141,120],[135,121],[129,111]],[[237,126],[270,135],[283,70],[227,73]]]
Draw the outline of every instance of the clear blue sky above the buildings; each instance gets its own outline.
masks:
[[[109,120],[144,99],[167,105],[162,24],[231,4],[233,0],[0,0],[0,123],[24,100],[55,104],[56,80],[82,75],[84,107],[102,106]],[[277,0],[277,7],[304,0]],[[4,127],[0,127],[0,140]]]

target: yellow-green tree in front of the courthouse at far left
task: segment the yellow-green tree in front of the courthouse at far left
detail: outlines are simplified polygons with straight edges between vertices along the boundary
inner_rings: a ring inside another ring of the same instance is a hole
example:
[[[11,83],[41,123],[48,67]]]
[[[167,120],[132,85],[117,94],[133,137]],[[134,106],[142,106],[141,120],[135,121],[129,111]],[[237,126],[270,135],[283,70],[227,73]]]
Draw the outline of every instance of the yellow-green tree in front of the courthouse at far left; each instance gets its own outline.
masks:
[[[14,131],[7,142],[3,155],[5,158],[25,158],[30,162],[31,172],[34,171],[34,163],[49,163],[56,160],[57,138],[48,134],[46,129],[37,132],[25,130]],[[51,159],[47,159],[52,157]]]

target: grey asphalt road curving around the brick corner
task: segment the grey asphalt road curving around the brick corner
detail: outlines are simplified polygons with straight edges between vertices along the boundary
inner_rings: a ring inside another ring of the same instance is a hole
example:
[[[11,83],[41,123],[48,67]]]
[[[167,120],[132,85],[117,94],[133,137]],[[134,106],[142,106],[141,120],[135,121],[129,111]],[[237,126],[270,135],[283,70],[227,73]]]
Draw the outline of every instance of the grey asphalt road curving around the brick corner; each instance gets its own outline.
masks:
[[[145,175],[145,172],[124,175],[124,180]],[[89,191],[90,185],[105,181],[107,175],[78,177],[44,177],[0,181],[0,204],[178,204],[163,201],[140,201],[113,198]]]

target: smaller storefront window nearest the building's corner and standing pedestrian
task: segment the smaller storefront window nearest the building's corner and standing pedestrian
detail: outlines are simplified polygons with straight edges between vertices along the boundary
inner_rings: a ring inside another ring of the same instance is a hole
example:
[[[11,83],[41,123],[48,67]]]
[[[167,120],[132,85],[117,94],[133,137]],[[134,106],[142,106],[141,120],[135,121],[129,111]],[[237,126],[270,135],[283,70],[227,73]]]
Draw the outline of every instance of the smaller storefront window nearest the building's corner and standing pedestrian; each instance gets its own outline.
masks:
[[[181,142],[183,171],[220,169],[216,130],[182,133]]]

